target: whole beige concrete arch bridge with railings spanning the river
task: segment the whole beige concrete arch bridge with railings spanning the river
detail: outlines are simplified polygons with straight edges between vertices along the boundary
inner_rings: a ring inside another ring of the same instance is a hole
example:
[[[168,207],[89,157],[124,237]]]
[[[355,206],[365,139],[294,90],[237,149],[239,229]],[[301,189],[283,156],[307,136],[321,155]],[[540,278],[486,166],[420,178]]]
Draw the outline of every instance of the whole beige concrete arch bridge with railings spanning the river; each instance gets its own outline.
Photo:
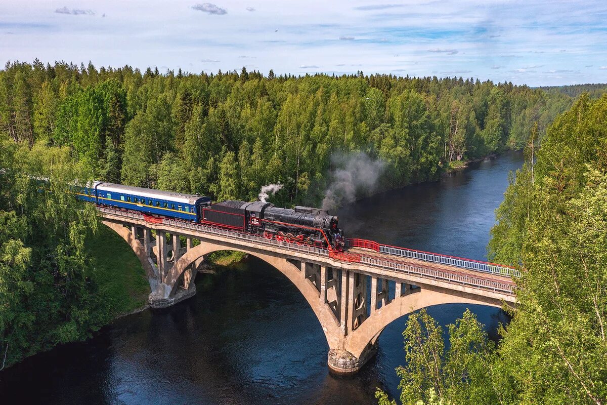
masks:
[[[214,251],[242,251],[277,268],[316,314],[330,349],[328,366],[339,373],[359,370],[375,355],[382,330],[412,311],[451,303],[515,304],[512,276],[518,273],[509,267],[358,239],[334,253],[197,223],[98,210],[141,260],[154,308],[193,296],[197,269]]]

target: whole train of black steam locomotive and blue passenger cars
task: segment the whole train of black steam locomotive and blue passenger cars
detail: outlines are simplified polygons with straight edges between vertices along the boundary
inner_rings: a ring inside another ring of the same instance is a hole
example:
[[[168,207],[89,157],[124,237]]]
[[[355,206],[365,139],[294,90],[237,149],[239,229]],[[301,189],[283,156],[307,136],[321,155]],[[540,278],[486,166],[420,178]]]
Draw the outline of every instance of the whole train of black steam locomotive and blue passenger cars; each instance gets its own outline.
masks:
[[[263,201],[227,200],[212,203],[209,197],[194,194],[104,182],[77,187],[75,194],[78,199],[100,206],[263,235],[266,239],[279,242],[334,251],[344,248],[337,217],[318,208],[279,208]]]

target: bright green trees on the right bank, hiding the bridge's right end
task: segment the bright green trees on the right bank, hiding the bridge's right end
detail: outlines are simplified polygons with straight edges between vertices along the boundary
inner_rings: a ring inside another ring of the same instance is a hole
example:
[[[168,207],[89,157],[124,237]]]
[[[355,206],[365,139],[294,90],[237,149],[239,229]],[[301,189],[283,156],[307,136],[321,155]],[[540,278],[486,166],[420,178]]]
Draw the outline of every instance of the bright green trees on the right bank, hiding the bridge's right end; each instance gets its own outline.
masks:
[[[403,404],[607,403],[605,123],[607,95],[582,95],[540,149],[529,141],[489,245],[523,274],[512,321],[496,345],[469,311],[448,342],[425,311],[412,315],[398,370]]]

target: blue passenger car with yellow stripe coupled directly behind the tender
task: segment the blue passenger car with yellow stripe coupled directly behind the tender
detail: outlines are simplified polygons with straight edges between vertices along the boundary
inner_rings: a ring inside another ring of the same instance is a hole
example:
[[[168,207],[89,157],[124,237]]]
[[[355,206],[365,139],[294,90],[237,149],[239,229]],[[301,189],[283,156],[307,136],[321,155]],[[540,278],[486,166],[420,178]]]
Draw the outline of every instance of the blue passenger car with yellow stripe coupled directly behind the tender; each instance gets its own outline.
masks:
[[[202,212],[200,206],[211,203],[209,197],[200,197],[195,194],[180,194],[101,182],[96,182],[94,187],[97,196],[96,203],[99,205],[196,222],[200,221]]]

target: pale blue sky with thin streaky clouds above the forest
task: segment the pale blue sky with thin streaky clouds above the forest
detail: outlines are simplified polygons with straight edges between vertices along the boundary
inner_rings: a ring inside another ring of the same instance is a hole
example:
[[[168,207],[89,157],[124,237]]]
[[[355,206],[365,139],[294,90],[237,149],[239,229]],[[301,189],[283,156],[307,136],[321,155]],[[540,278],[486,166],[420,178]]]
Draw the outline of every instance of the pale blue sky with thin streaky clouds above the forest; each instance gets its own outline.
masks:
[[[0,0],[0,61],[607,83],[607,0]]]

